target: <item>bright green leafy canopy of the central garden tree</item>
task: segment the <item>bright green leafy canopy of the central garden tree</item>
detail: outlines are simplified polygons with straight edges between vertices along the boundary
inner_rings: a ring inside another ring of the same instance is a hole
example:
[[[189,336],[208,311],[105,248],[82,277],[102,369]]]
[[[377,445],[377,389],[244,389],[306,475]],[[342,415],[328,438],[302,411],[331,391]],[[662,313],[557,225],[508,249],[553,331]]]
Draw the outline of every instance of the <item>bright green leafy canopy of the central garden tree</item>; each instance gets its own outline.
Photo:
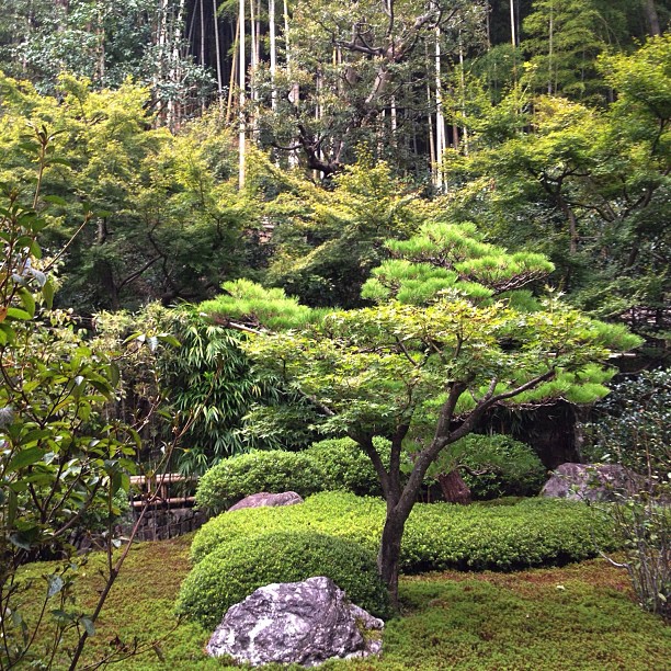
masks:
[[[609,348],[638,342],[558,296],[516,299],[511,289],[551,264],[487,244],[470,225],[427,223],[389,248],[405,258],[374,271],[364,288],[374,307],[314,311],[278,289],[238,282],[202,308],[259,333],[246,350],[312,400],[321,431],[359,435],[391,437],[412,425],[428,437],[455,383],[462,418],[492,399],[591,401],[611,377],[596,362]]]

